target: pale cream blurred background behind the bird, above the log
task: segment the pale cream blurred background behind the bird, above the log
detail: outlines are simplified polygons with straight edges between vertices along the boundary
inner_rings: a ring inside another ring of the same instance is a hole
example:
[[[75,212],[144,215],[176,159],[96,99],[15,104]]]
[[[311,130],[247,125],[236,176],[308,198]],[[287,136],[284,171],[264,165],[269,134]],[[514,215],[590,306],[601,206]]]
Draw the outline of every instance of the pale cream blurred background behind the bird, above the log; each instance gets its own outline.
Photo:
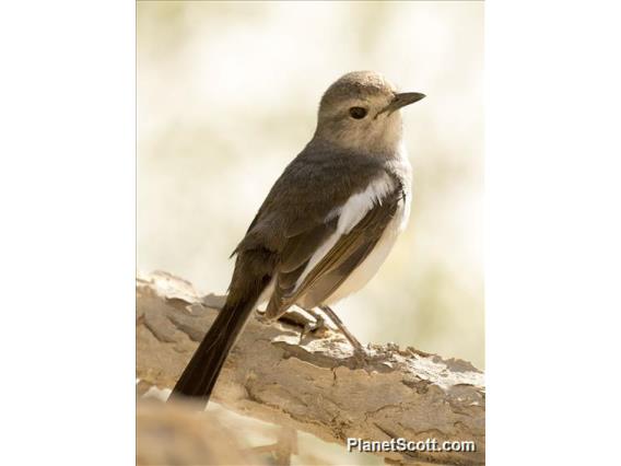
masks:
[[[229,255],[352,70],[427,97],[405,109],[409,226],[337,312],[363,341],[484,369],[483,3],[140,1],[138,267],[224,293]]]

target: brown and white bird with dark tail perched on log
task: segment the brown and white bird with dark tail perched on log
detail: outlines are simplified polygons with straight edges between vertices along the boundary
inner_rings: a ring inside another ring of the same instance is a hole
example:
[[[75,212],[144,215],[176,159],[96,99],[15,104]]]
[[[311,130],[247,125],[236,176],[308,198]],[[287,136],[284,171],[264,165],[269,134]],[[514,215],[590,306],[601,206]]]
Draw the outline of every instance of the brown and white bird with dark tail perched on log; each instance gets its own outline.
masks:
[[[254,310],[273,322],[292,305],[319,308],[356,357],[364,347],[332,310],[379,269],[408,222],[412,168],[400,109],[419,92],[399,92],[383,74],[349,72],[324,93],[315,133],[277,179],[236,256],[226,301],[171,398],[204,404]]]

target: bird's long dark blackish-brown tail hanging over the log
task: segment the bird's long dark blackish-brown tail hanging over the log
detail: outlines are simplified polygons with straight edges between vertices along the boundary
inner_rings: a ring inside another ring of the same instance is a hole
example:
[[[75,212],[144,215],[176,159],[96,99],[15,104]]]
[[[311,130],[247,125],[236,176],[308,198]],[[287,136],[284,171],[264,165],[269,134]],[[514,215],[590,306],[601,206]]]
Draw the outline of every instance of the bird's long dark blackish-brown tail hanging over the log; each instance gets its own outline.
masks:
[[[230,293],[226,304],[209,328],[192,359],[177,381],[171,398],[195,397],[208,403],[218,375],[244,324],[254,311],[265,283],[245,287],[241,298]]]

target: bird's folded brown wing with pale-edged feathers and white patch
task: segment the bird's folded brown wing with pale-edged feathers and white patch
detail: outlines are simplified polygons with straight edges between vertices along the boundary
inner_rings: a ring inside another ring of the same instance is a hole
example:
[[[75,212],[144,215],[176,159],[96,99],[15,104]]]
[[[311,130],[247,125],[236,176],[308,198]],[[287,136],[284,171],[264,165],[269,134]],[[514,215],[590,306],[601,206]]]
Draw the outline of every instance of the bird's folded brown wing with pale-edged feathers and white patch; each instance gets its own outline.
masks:
[[[288,238],[266,316],[277,318],[301,299],[321,304],[373,251],[402,200],[402,186],[392,183],[370,205],[354,199],[349,210]]]

